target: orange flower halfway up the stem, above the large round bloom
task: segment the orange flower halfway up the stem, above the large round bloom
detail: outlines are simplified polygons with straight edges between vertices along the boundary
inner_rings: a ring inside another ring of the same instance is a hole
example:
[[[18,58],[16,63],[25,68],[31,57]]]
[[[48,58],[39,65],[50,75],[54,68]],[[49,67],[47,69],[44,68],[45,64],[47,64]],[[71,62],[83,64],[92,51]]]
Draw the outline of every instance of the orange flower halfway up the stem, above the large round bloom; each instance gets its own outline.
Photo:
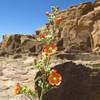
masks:
[[[55,44],[46,44],[43,48],[43,54],[45,55],[52,55],[57,51],[57,46]]]

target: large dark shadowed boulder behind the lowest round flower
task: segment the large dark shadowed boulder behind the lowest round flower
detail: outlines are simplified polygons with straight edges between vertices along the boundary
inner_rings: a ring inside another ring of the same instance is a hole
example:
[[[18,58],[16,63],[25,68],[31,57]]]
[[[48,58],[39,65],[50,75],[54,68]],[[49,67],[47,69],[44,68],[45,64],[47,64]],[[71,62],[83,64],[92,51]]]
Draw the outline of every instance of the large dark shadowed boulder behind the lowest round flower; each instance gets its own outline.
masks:
[[[62,83],[48,91],[43,100],[100,100],[99,70],[72,62],[54,68],[62,75]]]

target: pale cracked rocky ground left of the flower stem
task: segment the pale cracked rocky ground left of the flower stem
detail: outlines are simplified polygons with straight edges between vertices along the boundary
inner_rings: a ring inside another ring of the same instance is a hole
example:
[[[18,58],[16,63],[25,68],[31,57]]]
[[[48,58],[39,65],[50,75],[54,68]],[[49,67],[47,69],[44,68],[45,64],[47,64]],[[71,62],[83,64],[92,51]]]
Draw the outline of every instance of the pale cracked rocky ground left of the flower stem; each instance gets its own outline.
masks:
[[[0,100],[3,97],[12,96],[13,86],[16,82],[28,85],[34,89],[34,57],[22,57],[13,59],[10,57],[0,58]],[[8,99],[7,99],[8,100]]]

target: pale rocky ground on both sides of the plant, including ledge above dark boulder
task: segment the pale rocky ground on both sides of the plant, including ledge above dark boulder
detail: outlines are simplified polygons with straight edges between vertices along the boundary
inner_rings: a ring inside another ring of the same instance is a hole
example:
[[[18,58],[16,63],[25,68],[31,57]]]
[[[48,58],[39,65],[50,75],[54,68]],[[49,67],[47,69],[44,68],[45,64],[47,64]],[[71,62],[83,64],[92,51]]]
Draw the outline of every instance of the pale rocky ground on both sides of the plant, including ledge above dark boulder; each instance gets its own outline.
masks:
[[[68,57],[72,55],[74,56],[71,60]],[[65,54],[65,57],[63,59],[57,58],[53,60],[52,65],[73,61],[91,68],[100,68],[99,53]],[[34,90],[34,77],[37,72],[34,69],[34,59],[36,57],[25,55],[17,59],[14,59],[13,56],[0,57],[0,100],[10,100],[7,97],[12,96],[13,86],[16,82],[27,85]]]

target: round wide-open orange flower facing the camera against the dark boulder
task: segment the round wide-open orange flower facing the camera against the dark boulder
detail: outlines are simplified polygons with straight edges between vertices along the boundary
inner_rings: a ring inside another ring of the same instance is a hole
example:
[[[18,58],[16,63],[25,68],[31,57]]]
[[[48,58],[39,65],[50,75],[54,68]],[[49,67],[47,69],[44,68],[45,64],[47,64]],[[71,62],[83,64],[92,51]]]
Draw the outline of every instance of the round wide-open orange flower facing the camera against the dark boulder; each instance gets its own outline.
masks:
[[[48,76],[49,84],[58,86],[60,85],[61,81],[62,81],[61,75],[55,69],[52,69]]]

